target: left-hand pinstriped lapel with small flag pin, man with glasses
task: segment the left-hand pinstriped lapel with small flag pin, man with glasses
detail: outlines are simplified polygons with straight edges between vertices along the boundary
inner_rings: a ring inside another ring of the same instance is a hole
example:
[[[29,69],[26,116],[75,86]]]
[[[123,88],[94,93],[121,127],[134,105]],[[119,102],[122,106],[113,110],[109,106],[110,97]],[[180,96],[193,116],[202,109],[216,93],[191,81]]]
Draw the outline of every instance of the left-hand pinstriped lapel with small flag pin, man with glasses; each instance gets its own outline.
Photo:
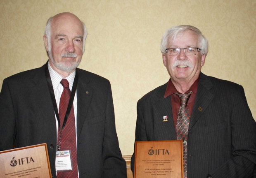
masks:
[[[161,123],[163,123],[164,126],[166,126],[166,128],[168,129],[171,137],[173,137],[173,139],[176,139],[176,132],[175,132],[175,127],[173,123],[173,111],[171,106],[171,96],[164,98],[166,87],[167,87],[167,83],[157,93],[159,100],[155,103],[155,107],[159,111],[161,118],[155,118],[154,122],[156,122],[157,125],[161,125]],[[168,116],[167,118],[168,121],[166,122],[163,121],[164,116]]]

